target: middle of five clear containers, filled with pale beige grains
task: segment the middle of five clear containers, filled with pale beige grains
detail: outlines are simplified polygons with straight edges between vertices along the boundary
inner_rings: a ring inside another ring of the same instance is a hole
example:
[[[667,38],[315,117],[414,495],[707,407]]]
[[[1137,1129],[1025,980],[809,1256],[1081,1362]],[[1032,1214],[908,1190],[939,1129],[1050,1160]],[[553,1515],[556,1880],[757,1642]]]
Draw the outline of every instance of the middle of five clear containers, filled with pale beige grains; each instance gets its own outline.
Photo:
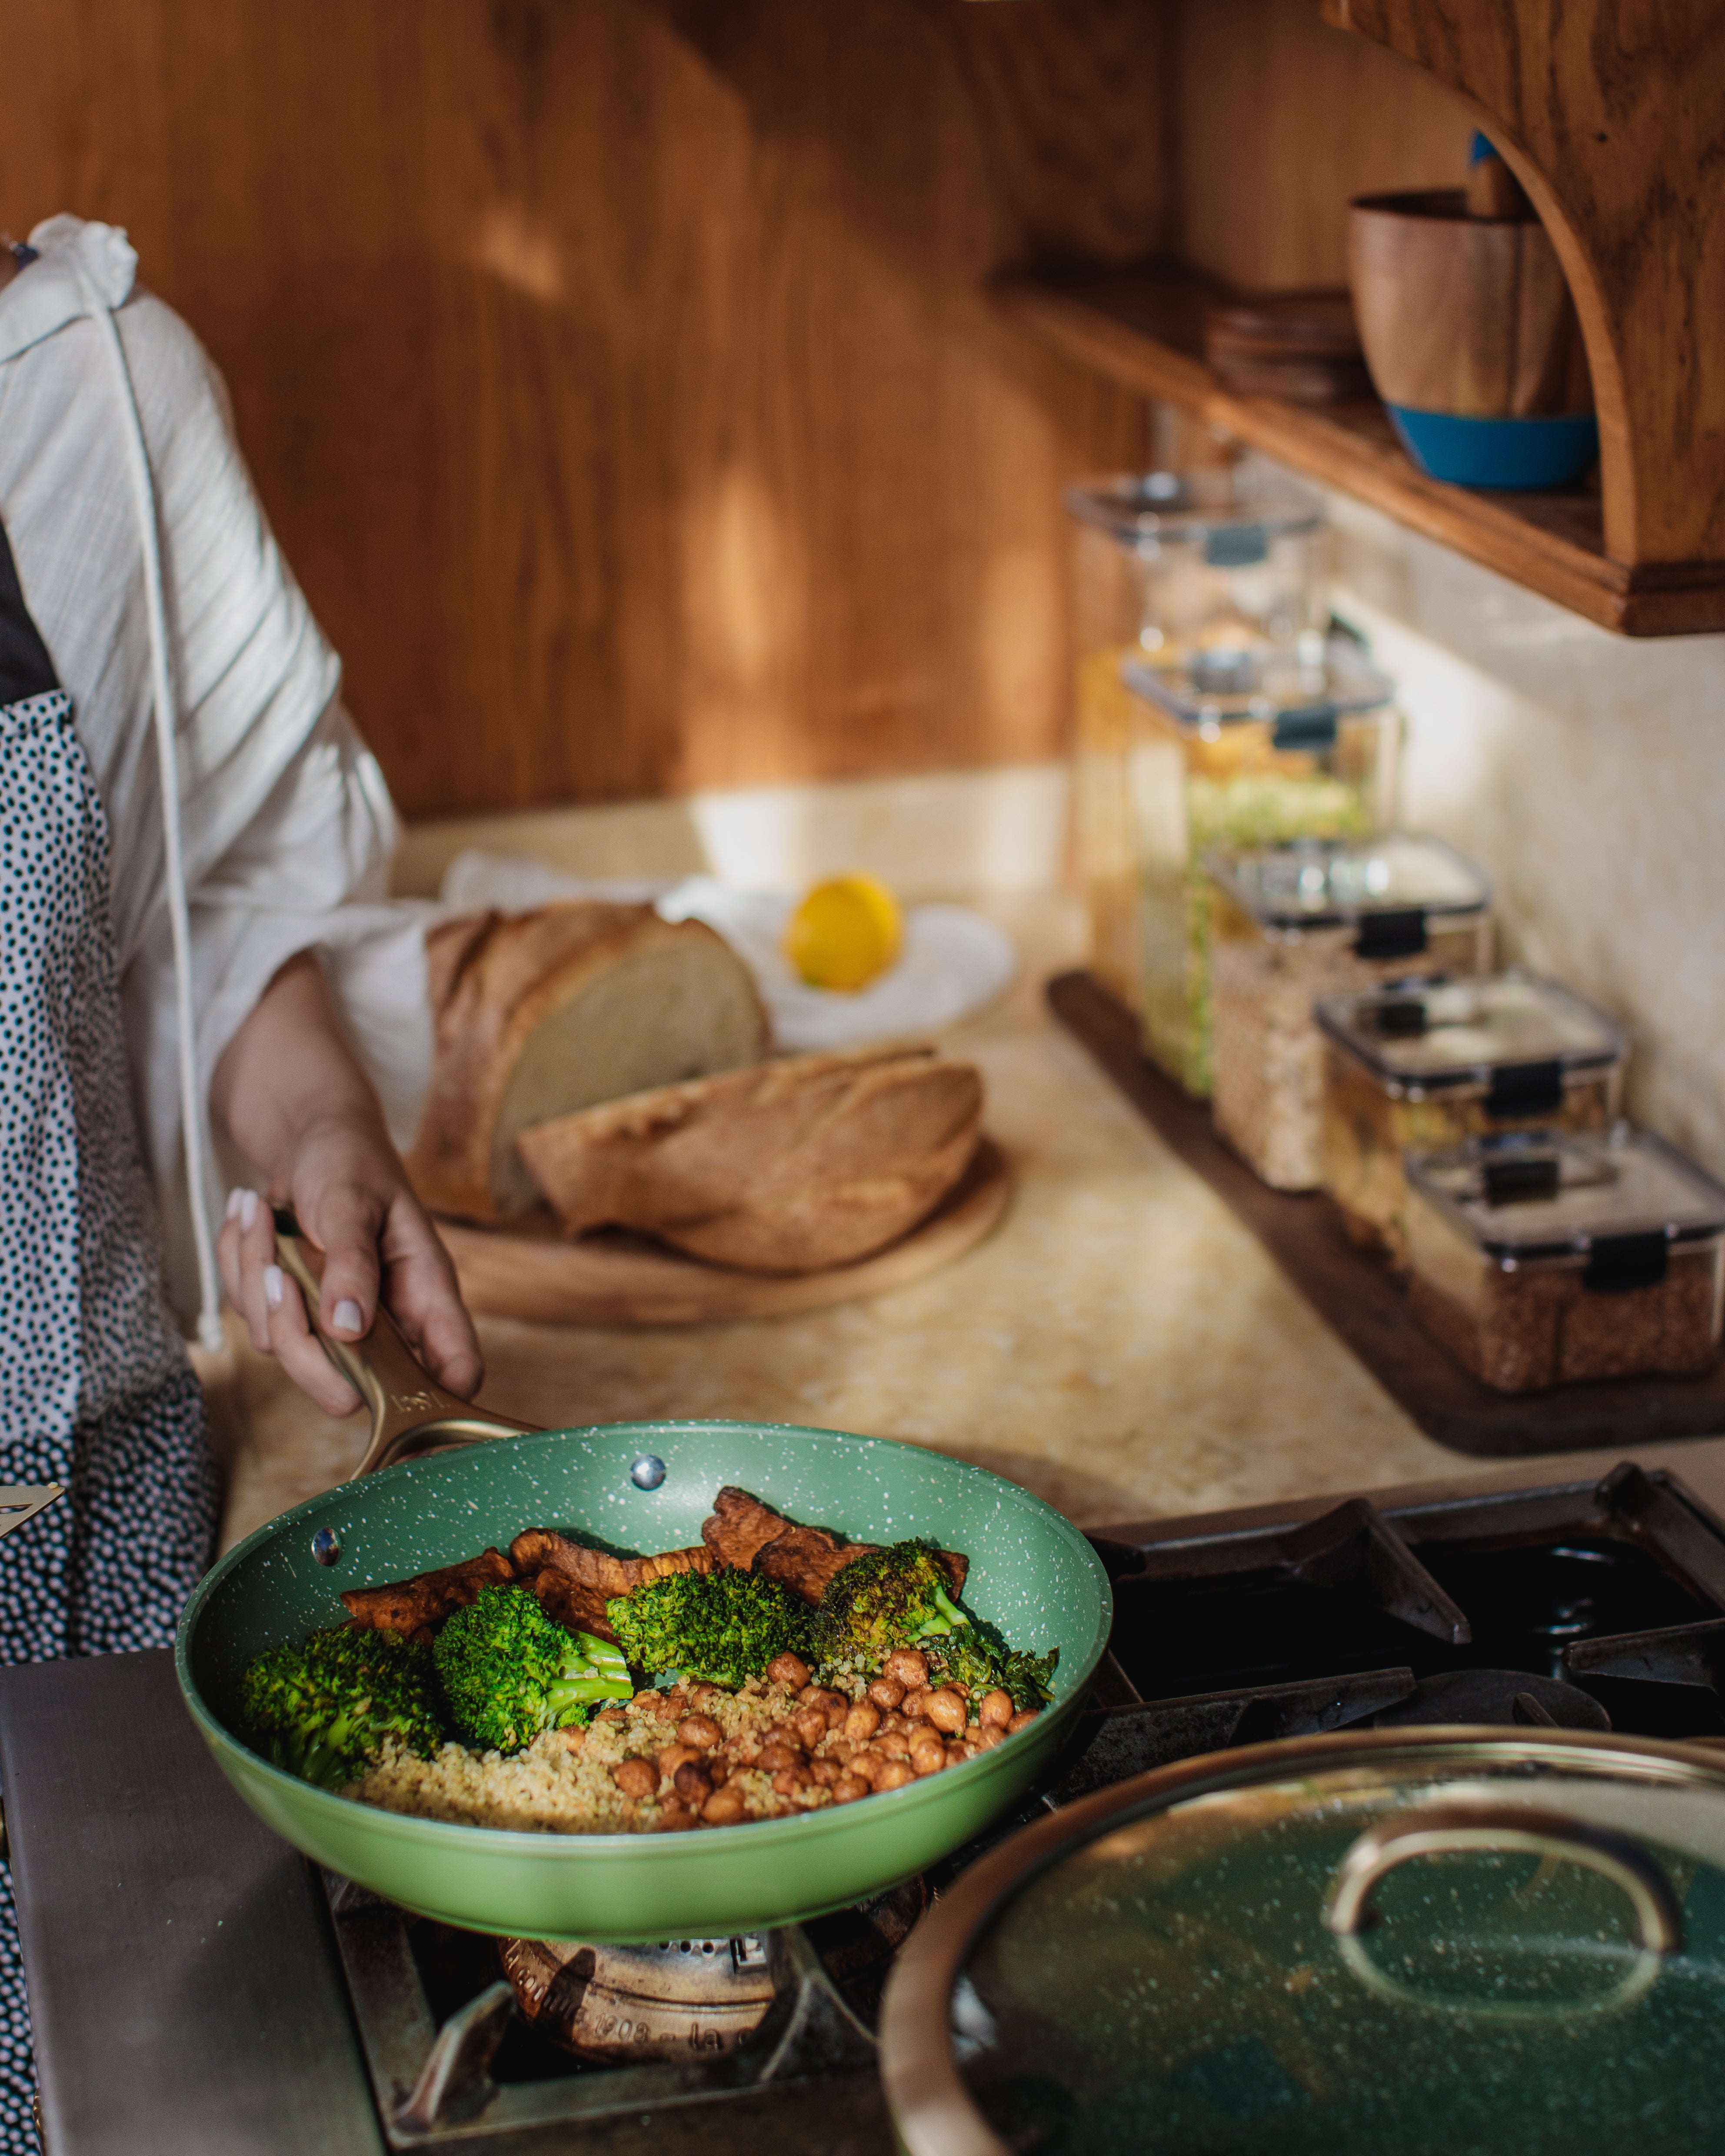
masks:
[[[1218,1134],[1272,1190],[1324,1160],[1317,996],[1492,966],[1492,886],[1438,839],[1294,839],[1210,862],[1210,1061]]]

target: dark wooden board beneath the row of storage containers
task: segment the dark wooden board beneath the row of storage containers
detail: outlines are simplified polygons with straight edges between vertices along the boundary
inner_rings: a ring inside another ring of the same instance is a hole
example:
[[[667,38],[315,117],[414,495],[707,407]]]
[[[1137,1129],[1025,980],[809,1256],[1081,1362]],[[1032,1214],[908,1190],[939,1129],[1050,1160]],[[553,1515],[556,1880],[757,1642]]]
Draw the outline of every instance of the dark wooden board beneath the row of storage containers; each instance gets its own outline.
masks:
[[[1427,1438],[1458,1453],[1514,1460],[1712,1438],[1725,1429],[1725,1360],[1706,1378],[1615,1378],[1548,1393],[1494,1393],[1421,1332],[1402,1285],[1348,1242],[1328,1199],[1270,1190],[1223,1145],[1208,1104],[1156,1069],[1138,1046],[1136,1020],[1098,981],[1063,972],[1048,983],[1048,1005]],[[1270,1429],[1274,1371],[1266,1369],[1264,1384]]]

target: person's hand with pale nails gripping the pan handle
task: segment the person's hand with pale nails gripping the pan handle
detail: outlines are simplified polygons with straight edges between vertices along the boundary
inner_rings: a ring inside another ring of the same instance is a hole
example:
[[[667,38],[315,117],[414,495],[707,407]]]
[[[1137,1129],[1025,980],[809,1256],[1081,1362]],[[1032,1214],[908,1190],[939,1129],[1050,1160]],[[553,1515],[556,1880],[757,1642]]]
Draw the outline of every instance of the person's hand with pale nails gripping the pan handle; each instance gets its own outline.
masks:
[[[328,1414],[358,1406],[276,1263],[274,1201],[293,1207],[323,1253],[321,1326],[336,1339],[364,1339],[382,1296],[431,1376],[470,1399],[483,1365],[455,1268],[408,1186],[310,953],[282,966],[235,1033],[216,1067],[211,1108],[267,1188],[267,1201],[235,1190],[216,1246],[252,1345],[278,1356]]]

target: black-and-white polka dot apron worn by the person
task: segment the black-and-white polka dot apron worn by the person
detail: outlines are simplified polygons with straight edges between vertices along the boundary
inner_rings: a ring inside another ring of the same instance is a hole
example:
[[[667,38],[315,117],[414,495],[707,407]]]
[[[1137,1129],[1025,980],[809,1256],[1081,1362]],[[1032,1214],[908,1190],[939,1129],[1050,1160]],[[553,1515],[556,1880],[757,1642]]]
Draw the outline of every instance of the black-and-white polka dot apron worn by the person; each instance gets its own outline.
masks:
[[[0,1539],[0,1662],[166,1647],[216,1470],[162,1298],[121,1039],[108,824],[0,533],[0,1481],[67,1498]],[[0,2156],[30,2152],[30,2012],[0,1865]]]

